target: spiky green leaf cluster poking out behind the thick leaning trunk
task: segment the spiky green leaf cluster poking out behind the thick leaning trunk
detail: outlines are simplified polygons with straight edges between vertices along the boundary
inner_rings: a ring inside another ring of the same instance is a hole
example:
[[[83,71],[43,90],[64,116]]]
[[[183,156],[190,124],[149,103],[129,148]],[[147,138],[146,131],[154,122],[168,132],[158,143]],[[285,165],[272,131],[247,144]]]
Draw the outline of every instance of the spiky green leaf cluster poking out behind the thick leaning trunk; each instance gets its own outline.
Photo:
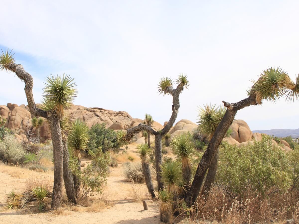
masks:
[[[197,123],[199,123],[199,131],[211,138],[221,122],[226,108],[216,107],[216,105],[205,105],[204,108],[199,108]]]

